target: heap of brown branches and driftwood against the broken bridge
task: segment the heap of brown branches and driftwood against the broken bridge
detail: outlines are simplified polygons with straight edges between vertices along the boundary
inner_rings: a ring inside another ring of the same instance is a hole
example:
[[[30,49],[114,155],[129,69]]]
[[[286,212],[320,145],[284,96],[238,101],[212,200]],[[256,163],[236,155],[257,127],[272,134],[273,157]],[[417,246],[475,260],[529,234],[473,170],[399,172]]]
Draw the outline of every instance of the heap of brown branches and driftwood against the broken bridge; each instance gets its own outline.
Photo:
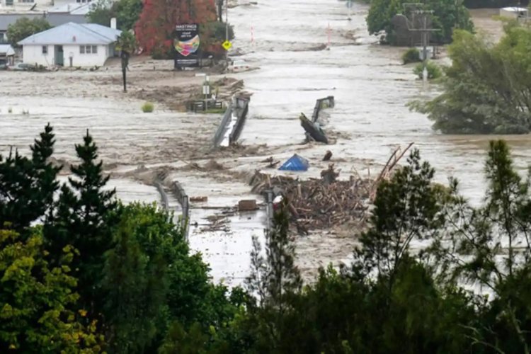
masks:
[[[299,181],[288,176],[270,177],[256,171],[250,184],[254,193],[274,190],[290,202],[297,227],[326,229],[338,224],[362,222],[365,219],[373,181],[350,177],[337,181],[333,164],[321,173],[322,179]]]

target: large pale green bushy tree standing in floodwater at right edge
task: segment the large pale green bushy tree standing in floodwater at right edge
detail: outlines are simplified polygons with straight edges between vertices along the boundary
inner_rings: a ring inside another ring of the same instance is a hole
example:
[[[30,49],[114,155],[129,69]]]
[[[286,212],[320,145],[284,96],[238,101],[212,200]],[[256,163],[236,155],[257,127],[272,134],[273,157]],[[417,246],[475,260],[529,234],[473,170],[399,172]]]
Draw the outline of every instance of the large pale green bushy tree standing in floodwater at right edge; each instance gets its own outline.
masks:
[[[413,108],[450,134],[514,134],[531,130],[531,28],[508,23],[496,44],[456,31],[443,92]]]

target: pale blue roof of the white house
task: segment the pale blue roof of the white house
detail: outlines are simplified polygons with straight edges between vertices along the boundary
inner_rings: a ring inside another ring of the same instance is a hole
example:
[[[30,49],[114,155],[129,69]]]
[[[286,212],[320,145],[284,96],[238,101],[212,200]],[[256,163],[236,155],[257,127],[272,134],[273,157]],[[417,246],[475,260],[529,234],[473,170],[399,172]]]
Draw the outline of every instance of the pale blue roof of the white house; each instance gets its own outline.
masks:
[[[121,30],[96,23],[64,23],[24,38],[18,45],[108,45],[116,41]]]

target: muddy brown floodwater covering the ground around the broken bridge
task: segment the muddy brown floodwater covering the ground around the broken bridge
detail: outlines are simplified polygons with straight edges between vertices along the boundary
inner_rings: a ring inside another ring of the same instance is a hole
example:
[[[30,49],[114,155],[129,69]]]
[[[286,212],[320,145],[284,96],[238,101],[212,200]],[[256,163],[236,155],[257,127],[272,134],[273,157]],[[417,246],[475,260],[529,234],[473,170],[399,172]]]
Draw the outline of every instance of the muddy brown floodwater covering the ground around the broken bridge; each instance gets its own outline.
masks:
[[[433,96],[435,88],[423,86],[411,66],[401,65],[404,49],[381,47],[368,35],[367,6],[355,4],[352,21],[347,21],[347,13],[344,2],[329,0],[261,0],[230,9],[237,35],[234,47],[244,53],[242,59],[259,67],[228,75],[243,79],[245,90],[252,93],[243,148],[210,150],[217,115],[176,113],[165,105],[152,114],[142,113],[143,89],[164,88],[161,94],[168,95],[168,102],[172,95],[183,98],[189,86],[201,80],[188,72],[169,72],[171,62],[149,62],[132,65],[131,94],[121,92],[118,66],[99,73],[0,72],[0,152],[11,146],[27,152],[51,122],[57,134],[56,157],[69,163],[74,161],[74,144],[90,129],[113,176],[111,184],[126,202],[158,201],[151,184],[161,175],[166,185],[181,182],[190,196],[207,196],[207,203],[191,205],[190,245],[210,263],[214,280],[229,285],[240,284],[249,269],[251,236],[263,234],[264,213],[218,218],[220,208],[234,207],[241,199],[261,202],[246,182],[263,166],[258,161],[268,156],[281,161],[295,152],[304,156],[311,167],[300,176],[307,178],[319,176],[327,165],[322,156],[331,150],[336,168],[347,178],[353,169],[378,173],[396,146],[415,142],[437,169],[438,181],[455,176],[464,195],[480,202],[485,148],[495,137],[433,132],[426,116],[410,112],[406,103]],[[329,50],[323,50],[329,41]],[[336,99],[336,106],[325,113],[334,144],[304,145],[298,116],[311,115],[315,100],[325,96]],[[531,155],[530,138],[504,139],[524,169]],[[190,168],[211,159],[222,169]],[[212,229],[212,219],[224,219],[222,227]],[[348,259],[355,242],[341,227],[298,239],[304,275],[313,275],[319,265]]]

